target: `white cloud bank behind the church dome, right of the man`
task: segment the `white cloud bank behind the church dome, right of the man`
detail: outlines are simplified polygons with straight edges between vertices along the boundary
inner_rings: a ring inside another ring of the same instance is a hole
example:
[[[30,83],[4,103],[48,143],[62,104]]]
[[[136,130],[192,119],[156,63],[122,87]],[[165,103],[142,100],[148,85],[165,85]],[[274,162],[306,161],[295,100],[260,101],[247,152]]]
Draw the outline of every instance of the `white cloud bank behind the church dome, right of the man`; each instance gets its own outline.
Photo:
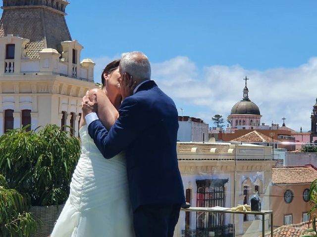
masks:
[[[175,57],[153,64],[153,79],[188,116],[203,118],[211,125],[211,116],[226,117],[232,106],[242,99],[247,76],[249,97],[263,115],[262,122],[310,130],[310,114],[317,97],[317,58],[296,68],[275,68],[266,71],[247,70],[239,65],[205,66],[199,71],[187,57]],[[184,105],[183,105],[184,107]],[[192,111],[192,114],[191,114]]]

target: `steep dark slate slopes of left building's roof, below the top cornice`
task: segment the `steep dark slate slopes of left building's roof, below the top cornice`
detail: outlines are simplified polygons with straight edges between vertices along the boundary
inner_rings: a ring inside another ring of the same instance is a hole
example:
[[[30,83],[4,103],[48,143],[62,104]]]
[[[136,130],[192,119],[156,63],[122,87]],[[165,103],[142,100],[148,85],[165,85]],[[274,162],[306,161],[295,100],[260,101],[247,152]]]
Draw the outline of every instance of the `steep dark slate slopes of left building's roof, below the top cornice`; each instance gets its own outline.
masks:
[[[71,40],[65,17],[44,6],[4,9],[0,19],[0,37],[8,34],[30,40],[25,48],[30,59],[38,59],[43,48],[53,48],[61,53],[61,42]]]

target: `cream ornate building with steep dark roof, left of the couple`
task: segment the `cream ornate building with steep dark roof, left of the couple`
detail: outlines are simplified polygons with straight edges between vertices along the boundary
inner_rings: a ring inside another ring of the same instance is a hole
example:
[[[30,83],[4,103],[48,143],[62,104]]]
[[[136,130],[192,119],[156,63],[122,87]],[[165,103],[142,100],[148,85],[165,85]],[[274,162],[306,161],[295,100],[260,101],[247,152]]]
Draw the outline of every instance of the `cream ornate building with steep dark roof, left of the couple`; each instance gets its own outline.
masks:
[[[68,125],[78,134],[81,98],[94,85],[94,65],[80,61],[66,0],[3,0],[0,20],[0,135],[31,124]],[[65,128],[68,129],[68,128]]]

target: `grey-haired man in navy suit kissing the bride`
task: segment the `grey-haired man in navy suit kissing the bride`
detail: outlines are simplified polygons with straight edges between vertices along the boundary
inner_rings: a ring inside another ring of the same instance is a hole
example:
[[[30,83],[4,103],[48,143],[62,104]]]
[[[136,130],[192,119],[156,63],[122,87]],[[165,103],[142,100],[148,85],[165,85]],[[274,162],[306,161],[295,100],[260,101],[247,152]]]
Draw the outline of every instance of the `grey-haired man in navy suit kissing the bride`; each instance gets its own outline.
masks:
[[[97,101],[85,103],[87,98],[83,98],[89,135],[107,159],[123,150],[126,153],[136,237],[172,237],[180,206],[185,203],[176,154],[177,109],[150,80],[151,66],[145,54],[123,54],[119,71],[123,101],[119,118],[109,131],[94,113]],[[129,96],[131,86],[136,87]]]

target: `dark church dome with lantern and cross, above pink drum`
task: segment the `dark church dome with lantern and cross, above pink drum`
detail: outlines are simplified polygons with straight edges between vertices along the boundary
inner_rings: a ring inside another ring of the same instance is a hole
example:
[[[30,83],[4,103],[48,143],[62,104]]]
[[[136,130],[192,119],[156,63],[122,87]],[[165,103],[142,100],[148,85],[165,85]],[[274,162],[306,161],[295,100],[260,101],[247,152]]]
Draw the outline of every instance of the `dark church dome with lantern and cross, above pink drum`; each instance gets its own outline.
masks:
[[[246,84],[243,89],[243,99],[232,107],[231,115],[261,115],[259,107],[249,99],[248,78],[244,80]]]

